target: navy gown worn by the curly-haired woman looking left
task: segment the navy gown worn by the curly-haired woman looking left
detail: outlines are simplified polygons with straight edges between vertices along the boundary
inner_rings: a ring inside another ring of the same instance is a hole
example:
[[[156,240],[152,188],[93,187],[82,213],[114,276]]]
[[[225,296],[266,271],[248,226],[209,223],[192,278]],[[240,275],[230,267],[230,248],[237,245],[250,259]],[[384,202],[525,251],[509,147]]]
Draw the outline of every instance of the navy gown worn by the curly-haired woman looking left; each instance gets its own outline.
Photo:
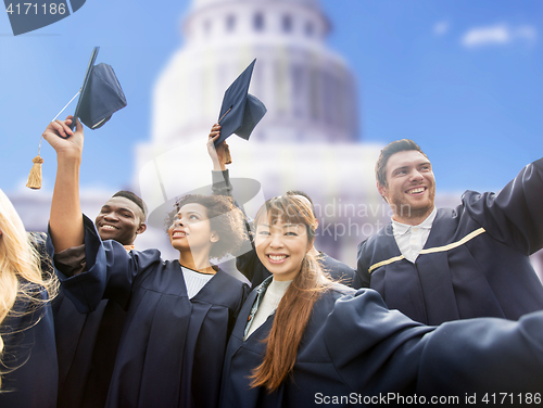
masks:
[[[216,407],[226,343],[247,285],[218,270],[191,299],[177,260],[100,240],[85,217],[87,270],[56,271],[79,313],[127,310],[106,407]],[[51,241],[48,251],[53,254]]]

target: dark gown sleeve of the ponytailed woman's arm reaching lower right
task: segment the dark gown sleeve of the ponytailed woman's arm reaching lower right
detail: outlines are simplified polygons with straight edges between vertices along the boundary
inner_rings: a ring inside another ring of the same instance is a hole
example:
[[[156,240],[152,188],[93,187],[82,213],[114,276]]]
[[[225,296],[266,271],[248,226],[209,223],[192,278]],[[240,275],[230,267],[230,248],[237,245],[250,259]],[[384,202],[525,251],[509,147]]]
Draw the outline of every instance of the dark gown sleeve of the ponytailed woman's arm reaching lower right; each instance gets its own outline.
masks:
[[[543,311],[519,321],[478,318],[430,327],[389,310],[377,292],[359,290],[336,302],[324,336],[340,377],[365,395],[541,393]]]

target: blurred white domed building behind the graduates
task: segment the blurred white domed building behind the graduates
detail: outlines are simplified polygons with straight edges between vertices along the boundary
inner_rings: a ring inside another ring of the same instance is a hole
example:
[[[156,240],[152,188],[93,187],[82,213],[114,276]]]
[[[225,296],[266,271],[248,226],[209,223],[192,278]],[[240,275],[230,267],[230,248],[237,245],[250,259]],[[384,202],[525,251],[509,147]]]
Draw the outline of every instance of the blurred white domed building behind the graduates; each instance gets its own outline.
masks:
[[[355,79],[326,46],[319,2],[194,0],[181,29],[185,42],[155,85],[152,139],[137,148],[135,182],[151,211],[211,183],[210,128],[225,90],[256,59],[249,92],[268,112],[249,141],[228,139],[230,177],[262,186],[245,211],[307,192],[321,225],[317,247],[354,266],[356,244],[388,207],[375,188],[379,146],[359,143]]]

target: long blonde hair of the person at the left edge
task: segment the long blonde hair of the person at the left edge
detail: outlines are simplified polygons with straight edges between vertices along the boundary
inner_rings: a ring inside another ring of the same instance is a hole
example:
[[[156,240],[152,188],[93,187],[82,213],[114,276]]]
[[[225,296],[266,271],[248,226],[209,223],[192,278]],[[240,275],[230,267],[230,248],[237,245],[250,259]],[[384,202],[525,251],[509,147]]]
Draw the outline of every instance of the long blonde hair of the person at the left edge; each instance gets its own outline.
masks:
[[[56,294],[58,280],[50,273],[42,273],[40,256],[30,244],[23,221],[0,190],[0,324],[14,313],[12,308],[17,298],[28,298],[35,307],[41,306],[35,296],[36,284],[45,288],[50,298]],[[3,354],[4,343],[0,335],[0,374],[5,373],[5,369],[14,369],[5,367]],[[0,388],[1,381],[0,377]]]

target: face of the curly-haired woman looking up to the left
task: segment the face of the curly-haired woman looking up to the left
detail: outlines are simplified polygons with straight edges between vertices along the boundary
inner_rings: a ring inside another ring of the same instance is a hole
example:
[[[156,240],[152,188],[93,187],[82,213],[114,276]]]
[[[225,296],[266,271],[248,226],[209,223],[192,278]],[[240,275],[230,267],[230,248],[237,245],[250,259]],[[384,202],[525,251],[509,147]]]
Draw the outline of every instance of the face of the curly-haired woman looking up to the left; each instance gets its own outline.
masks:
[[[218,235],[212,231],[207,209],[198,203],[184,205],[168,228],[169,242],[179,252],[210,252]]]

